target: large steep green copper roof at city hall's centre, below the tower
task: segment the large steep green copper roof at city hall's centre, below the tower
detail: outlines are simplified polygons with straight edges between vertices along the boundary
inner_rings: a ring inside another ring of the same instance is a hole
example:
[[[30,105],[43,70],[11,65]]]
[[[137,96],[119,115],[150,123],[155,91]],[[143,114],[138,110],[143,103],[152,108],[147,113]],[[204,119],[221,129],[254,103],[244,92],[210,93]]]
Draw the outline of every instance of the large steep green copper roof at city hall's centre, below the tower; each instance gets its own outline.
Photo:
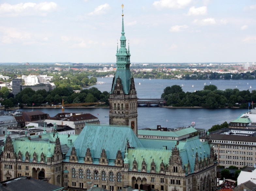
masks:
[[[75,146],[78,156],[84,157],[88,145],[91,152],[93,151],[92,155],[94,158],[100,158],[102,148],[104,147],[108,159],[114,160],[119,147],[123,151],[124,158],[127,138],[131,147],[143,147],[140,140],[128,126],[90,124],[83,128],[73,146]],[[72,148],[69,149],[66,156],[70,156],[71,150]]]

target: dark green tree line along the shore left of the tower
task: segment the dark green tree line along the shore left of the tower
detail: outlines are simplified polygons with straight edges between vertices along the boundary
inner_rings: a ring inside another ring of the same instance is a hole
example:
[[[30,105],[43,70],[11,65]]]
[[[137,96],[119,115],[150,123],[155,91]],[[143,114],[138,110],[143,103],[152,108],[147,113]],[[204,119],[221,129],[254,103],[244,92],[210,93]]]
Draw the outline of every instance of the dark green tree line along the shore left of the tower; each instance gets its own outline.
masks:
[[[83,89],[79,93],[75,93],[73,88],[69,87],[56,87],[55,89],[47,92],[46,90],[34,91],[31,88],[24,88],[15,97],[7,87],[3,87],[0,90],[1,105],[5,105],[5,108],[24,106],[39,107],[46,104],[59,105],[64,100],[64,104],[72,103],[91,103],[91,102],[105,102],[105,106],[109,106],[108,98],[109,93],[107,91],[100,92],[98,88],[92,87],[90,89]]]

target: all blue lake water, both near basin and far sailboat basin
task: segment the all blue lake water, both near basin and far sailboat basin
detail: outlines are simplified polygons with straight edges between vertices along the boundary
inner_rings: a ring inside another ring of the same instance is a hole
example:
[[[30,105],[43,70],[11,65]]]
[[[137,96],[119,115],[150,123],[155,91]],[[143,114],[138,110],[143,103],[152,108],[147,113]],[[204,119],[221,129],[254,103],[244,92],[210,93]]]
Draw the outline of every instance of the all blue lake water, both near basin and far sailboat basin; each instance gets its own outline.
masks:
[[[112,78],[97,78],[97,84],[101,92],[110,91]],[[165,79],[134,79],[135,88],[138,98],[160,98],[163,90],[167,86],[182,85],[183,91],[193,92],[194,90],[202,90],[204,83],[206,85],[216,85],[218,89],[225,90],[228,88],[238,88],[242,90],[253,90],[256,87],[254,80],[165,80]],[[139,85],[139,83],[141,83]],[[248,84],[247,84],[248,83]],[[254,85],[255,84],[255,85]],[[192,85],[194,87],[192,87]],[[236,87],[237,86],[237,87]],[[250,88],[250,86],[252,88]],[[31,109],[20,109],[28,111]],[[61,112],[61,108],[34,108],[48,113],[51,117]],[[247,109],[232,108],[159,108],[159,107],[139,107],[138,108],[138,128],[156,128],[157,125],[168,128],[177,128],[188,126],[191,121],[196,122],[197,128],[209,129],[213,125],[221,124],[225,121],[228,123],[235,120],[241,113],[248,111]],[[91,113],[97,116],[101,124],[109,124],[109,108],[65,108],[65,112],[70,113]]]

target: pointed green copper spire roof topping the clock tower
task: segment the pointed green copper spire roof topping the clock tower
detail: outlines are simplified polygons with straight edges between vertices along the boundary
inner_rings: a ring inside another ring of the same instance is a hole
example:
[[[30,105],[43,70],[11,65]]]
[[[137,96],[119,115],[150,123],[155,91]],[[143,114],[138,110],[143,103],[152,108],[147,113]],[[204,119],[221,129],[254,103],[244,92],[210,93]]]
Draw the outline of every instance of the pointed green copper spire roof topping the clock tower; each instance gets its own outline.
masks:
[[[116,51],[116,73],[114,78],[114,84],[116,79],[119,77],[122,82],[123,91],[125,94],[129,94],[130,84],[131,84],[131,71],[130,71],[130,49],[126,48],[126,37],[124,31],[124,18],[122,14],[122,32],[120,38],[120,49]],[[111,93],[114,90],[114,86],[111,90]]]

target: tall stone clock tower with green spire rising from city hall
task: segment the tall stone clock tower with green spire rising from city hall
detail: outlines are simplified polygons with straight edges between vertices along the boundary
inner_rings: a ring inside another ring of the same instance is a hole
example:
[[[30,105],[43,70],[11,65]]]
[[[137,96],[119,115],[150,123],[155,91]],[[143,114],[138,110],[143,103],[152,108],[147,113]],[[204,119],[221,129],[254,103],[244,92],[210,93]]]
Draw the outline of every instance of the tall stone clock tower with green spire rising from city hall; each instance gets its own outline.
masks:
[[[122,5],[122,8],[124,5]],[[130,49],[126,48],[124,14],[122,10],[122,36],[116,50],[116,72],[109,98],[109,124],[130,126],[138,135],[137,93],[130,71]]]

